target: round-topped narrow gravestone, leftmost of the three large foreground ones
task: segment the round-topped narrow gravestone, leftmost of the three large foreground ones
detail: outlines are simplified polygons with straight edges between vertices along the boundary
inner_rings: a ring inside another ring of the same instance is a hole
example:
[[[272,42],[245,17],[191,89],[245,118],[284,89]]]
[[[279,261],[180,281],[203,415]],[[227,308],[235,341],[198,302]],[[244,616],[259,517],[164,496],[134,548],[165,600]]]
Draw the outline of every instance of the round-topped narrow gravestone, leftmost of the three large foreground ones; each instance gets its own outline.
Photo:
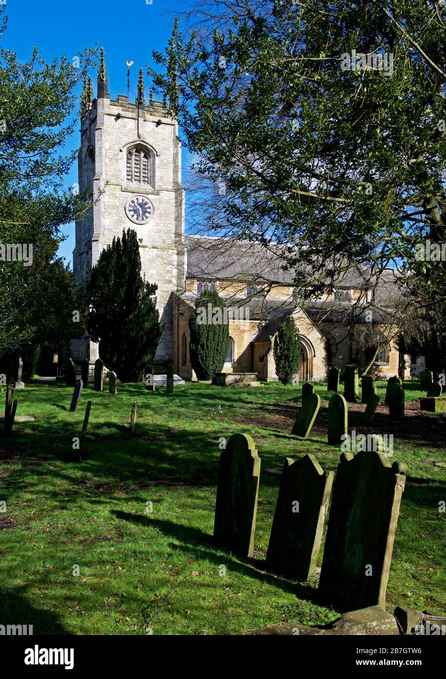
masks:
[[[220,454],[214,540],[242,558],[254,553],[259,477],[253,439],[233,434]]]

